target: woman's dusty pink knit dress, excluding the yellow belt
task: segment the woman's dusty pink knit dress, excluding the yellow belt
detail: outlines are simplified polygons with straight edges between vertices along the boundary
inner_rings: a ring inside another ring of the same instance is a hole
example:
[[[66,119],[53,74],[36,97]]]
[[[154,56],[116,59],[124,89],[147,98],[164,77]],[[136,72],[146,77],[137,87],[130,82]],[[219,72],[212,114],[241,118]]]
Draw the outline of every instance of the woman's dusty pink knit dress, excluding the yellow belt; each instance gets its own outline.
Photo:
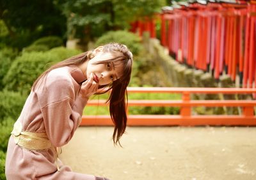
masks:
[[[67,144],[81,123],[88,101],[78,95],[84,80],[86,77],[77,66],[52,70],[45,84],[36,86],[35,92],[29,94],[18,119],[22,130],[46,132],[55,147]],[[29,151],[16,145],[10,137],[5,167],[7,179],[95,179],[92,175],[72,172],[61,161],[58,164],[60,171],[57,171],[52,149]]]

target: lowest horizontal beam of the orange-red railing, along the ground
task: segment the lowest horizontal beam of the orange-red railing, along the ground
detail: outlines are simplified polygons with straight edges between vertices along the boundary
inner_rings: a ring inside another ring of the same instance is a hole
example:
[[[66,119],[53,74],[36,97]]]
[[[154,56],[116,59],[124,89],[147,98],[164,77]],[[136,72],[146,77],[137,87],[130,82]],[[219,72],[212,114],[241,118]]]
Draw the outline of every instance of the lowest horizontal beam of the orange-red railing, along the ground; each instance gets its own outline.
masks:
[[[130,115],[127,126],[256,126],[256,117]],[[83,116],[80,126],[113,126],[109,116]]]

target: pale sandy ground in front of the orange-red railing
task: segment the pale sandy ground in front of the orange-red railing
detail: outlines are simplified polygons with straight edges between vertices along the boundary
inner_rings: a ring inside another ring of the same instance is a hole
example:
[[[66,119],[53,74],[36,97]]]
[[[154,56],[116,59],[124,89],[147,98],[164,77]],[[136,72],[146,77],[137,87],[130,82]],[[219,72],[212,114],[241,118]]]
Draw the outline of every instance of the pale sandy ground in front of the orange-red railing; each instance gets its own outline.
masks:
[[[72,170],[111,180],[256,179],[256,128],[81,127],[60,158]]]

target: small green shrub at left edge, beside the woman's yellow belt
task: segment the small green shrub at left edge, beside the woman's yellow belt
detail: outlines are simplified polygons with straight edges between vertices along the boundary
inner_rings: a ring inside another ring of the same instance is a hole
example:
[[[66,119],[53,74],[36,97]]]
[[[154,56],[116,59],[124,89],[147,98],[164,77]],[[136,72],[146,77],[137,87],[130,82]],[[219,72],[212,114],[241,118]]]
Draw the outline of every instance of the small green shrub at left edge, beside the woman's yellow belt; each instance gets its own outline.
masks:
[[[6,152],[7,146],[8,146],[8,141],[13,129],[13,124],[15,121],[7,117],[0,123],[0,151]]]

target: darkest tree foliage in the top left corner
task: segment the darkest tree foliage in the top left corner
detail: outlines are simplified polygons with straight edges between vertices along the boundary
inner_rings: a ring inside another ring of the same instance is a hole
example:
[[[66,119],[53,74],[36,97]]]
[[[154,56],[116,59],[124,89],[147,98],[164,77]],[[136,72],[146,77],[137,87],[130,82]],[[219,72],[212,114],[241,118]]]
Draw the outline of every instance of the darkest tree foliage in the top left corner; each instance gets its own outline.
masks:
[[[0,0],[0,19],[8,29],[1,40],[19,49],[42,36],[62,37],[66,31],[65,16],[52,0]]]

